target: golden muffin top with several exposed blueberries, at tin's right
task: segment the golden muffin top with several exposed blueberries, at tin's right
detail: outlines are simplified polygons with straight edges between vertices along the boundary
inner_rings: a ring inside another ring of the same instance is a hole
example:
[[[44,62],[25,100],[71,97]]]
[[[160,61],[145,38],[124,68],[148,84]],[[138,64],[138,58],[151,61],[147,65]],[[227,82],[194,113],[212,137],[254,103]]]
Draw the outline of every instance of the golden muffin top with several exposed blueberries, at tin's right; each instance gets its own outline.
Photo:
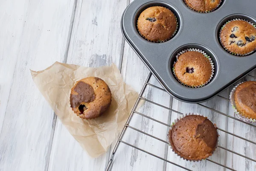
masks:
[[[228,51],[245,55],[256,49],[256,29],[243,20],[233,20],[221,30],[221,44]]]

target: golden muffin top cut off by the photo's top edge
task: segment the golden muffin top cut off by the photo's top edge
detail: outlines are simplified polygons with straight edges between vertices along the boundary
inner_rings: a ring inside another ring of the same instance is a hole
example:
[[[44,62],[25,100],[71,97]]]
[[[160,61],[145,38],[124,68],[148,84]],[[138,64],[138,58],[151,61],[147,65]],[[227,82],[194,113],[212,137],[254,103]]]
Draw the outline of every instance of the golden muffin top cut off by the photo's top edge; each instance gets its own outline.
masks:
[[[185,0],[190,8],[198,12],[210,12],[218,7],[221,0]]]

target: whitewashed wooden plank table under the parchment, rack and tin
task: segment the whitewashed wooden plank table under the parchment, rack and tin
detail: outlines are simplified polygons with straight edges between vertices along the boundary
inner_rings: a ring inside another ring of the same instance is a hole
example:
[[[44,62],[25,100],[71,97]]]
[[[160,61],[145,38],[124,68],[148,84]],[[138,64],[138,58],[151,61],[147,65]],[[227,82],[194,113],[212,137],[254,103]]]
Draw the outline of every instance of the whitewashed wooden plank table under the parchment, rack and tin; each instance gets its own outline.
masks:
[[[91,159],[49,107],[32,81],[29,69],[43,70],[55,61],[99,67],[112,63],[123,80],[137,92],[149,70],[122,37],[120,18],[129,0],[1,0],[0,1],[0,171],[104,171],[113,151]],[[232,72],[232,71],[230,71]],[[251,75],[256,75],[255,72]],[[246,77],[246,80],[254,79]],[[152,78],[151,84],[160,86]],[[230,89],[221,93],[228,98]],[[198,112],[219,128],[256,141],[256,128],[215,110],[234,116],[230,103],[219,96],[202,104],[173,99],[148,86],[143,94],[181,113]],[[141,113],[170,124],[178,114],[145,102]],[[136,115],[133,125],[166,139],[168,127]],[[256,159],[256,145],[219,131],[219,145]],[[195,171],[224,171],[210,161],[186,162],[163,142],[134,130],[124,139],[131,144]],[[256,170],[256,162],[218,148],[210,157],[230,168]],[[183,170],[127,145],[120,144],[112,171]],[[228,169],[226,169],[228,170]]]

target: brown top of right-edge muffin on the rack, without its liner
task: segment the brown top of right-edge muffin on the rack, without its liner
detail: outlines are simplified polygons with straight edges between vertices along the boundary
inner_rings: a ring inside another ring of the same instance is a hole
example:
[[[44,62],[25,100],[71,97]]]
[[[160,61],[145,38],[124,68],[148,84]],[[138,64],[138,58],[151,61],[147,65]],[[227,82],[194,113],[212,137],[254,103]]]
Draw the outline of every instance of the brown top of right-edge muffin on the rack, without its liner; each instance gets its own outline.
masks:
[[[241,115],[256,119],[256,81],[247,81],[236,87],[235,103]]]

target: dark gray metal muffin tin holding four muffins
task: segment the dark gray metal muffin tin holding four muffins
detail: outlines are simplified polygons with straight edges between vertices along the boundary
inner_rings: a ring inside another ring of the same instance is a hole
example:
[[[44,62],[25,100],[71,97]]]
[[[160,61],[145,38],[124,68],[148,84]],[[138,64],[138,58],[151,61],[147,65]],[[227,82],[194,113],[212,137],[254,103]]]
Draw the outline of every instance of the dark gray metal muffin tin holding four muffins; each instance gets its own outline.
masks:
[[[176,99],[190,103],[211,99],[256,69],[256,53],[239,57],[225,51],[219,41],[221,27],[228,20],[244,19],[256,24],[254,0],[222,0],[213,12],[199,13],[189,9],[183,0],[134,0],[124,11],[121,29],[125,40],[139,55],[165,90]],[[140,13],[150,6],[163,6],[177,17],[176,34],[163,43],[145,40],[137,31]],[[176,55],[184,49],[201,49],[212,58],[215,72],[203,87],[180,84],[173,75]]]

